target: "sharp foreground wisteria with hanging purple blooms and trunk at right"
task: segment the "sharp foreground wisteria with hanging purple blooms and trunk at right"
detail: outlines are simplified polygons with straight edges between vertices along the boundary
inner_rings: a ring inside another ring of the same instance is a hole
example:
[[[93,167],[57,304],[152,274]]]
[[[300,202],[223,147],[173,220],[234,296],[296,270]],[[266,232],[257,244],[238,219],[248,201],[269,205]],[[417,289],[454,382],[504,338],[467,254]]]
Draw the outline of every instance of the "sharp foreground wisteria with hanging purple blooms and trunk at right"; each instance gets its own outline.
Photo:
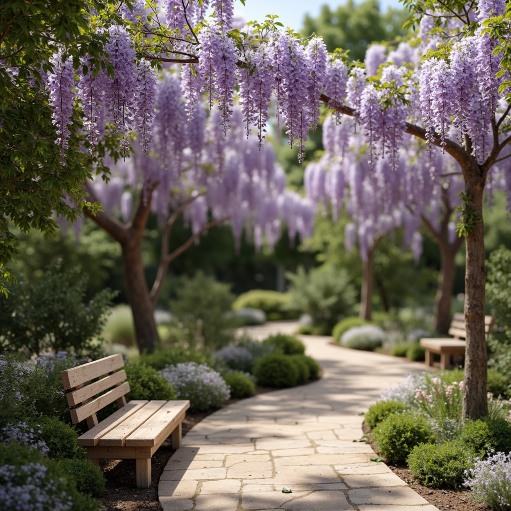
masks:
[[[381,152],[388,154],[390,168],[396,168],[405,133],[452,156],[464,179],[458,230],[467,243],[463,415],[477,419],[487,412],[482,197],[490,169],[498,166],[505,170],[511,140],[511,107],[502,101],[499,91],[505,77],[496,77],[500,59],[493,50],[497,44],[483,33],[482,23],[502,14],[505,3],[404,1],[420,22],[419,42],[425,59],[400,66],[388,75],[388,81],[383,72],[366,79],[363,67],[349,68],[339,55],[329,57],[317,37],[300,41],[291,30],[282,31],[275,18],[235,28],[233,0],[164,0],[162,9],[152,2],[113,1],[104,8],[91,8],[86,16],[89,26],[106,40],[108,66],[97,65],[87,55],[81,61],[70,60],[63,48],[53,57],[53,73],[42,86],[50,91],[64,162],[67,145],[74,141],[69,126],[74,126],[75,106],[83,123],[83,147],[91,158],[101,160],[105,151],[127,157],[136,133],[142,152],[151,159],[151,69],[159,72],[162,63],[178,66],[189,122],[200,115],[205,96],[218,115],[223,136],[229,131],[237,96],[246,131],[254,128],[258,145],[262,144],[274,94],[277,119],[286,125],[290,144],[299,147],[300,161],[308,130],[319,121],[321,102],[339,117],[355,118],[369,146],[371,168]],[[104,10],[123,14],[125,19],[113,22],[111,16],[104,16]],[[181,126],[172,124],[171,129]],[[118,146],[102,142],[116,137]],[[218,141],[218,137],[213,140]],[[188,147],[177,151],[178,155],[189,153]],[[164,153],[153,161],[166,167],[169,159]],[[193,172],[193,158],[188,164],[185,173]],[[207,165],[201,170],[207,173],[210,169],[214,174],[215,162]],[[156,182],[143,182],[138,202],[142,207],[149,204],[148,192]],[[511,179],[507,180],[508,190],[509,182]]]

